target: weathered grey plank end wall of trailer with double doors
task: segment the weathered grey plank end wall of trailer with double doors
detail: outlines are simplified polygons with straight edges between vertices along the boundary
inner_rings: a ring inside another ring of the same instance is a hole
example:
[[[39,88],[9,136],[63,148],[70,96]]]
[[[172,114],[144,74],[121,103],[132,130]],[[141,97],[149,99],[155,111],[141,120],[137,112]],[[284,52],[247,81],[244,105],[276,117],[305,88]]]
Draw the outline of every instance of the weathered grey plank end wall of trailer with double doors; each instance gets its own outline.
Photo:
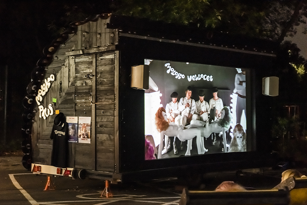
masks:
[[[44,107],[53,105],[65,116],[91,117],[91,143],[69,142],[70,168],[116,171],[118,164],[118,31],[106,29],[109,19],[97,18],[78,26],[60,45],[45,78],[56,80],[49,88]],[[82,22],[81,22],[82,23]],[[52,99],[56,98],[56,103]],[[38,108],[36,108],[38,111]],[[39,117],[32,127],[32,163],[50,165],[53,119]]]

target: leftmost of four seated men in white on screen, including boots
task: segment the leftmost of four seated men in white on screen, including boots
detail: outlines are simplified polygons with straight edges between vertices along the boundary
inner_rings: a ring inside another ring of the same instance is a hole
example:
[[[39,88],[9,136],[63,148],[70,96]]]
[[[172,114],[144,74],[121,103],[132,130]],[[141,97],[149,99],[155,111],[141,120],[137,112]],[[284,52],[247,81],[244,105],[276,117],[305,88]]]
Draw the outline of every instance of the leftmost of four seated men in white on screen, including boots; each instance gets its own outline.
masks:
[[[180,125],[181,115],[179,111],[179,103],[177,102],[178,93],[173,92],[171,94],[172,102],[166,104],[165,111],[167,115],[167,119],[169,122],[174,122],[175,124]],[[167,151],[174,150],[174,154],[178,154],[177,149],[177,137],[176,136],[169,136],[169,142],[167,146]]]

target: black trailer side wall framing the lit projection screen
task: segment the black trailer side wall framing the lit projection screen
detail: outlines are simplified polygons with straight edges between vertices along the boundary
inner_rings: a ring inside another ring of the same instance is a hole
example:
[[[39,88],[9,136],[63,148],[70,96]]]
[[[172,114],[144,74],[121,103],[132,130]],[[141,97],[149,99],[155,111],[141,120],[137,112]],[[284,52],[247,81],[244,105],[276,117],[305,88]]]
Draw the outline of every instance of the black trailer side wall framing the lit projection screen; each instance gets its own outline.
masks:
[[[275,61],[274,56],[126,36],[119,36],[117,49],[119,50],[120,66],[119,172],[191,166],[203,167],[206,171],[243,169],[259,167],[268,161],[263,157],[270,157],[271,151],[267,146],[269,138],[266,133],[270,130],[270,124],[265,122],[267,117],[265,111],[270,103],[269,99],[262,95],[262,77],[268,75],[272,69]],[[144,59],[251,69],[253,71],[253,75],[249,79],[251,81],[251,97],[247,99],[247,106],[250,106],[247,110],[251,113],[247,113],[247,115],[251,116],[248,129],[251,130],[253,136],[251,143],[256,145],[256,150],[145,160],[144,90],[130,87],[131,66],[144,64]]]

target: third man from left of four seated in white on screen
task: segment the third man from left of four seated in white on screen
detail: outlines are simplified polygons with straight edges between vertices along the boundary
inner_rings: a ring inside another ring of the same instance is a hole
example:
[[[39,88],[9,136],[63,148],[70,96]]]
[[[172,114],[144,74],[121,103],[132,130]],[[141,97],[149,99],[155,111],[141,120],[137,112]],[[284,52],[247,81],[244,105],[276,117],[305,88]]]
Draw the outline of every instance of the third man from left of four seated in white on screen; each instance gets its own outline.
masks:
[[[204,101],[205,92],[200,90],[198,92],[199,101],[196,101],[196,110],[192,116],[192,120],[208,121],[208,114],[210,113],[210,107],[208,102]]]

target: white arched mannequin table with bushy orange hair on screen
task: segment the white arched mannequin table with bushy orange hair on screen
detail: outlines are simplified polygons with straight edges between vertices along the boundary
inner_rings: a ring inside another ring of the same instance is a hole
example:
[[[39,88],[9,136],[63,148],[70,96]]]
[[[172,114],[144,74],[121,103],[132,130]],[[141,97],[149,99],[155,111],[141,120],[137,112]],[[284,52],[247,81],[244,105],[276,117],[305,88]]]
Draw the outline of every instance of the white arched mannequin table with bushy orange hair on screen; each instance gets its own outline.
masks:
[[[161,158],[162,154],[167,152],[168,136],[177,136],[180,141],[188,140],[186,156],[191,155],[192,139],[196,136],[196,145],[198,154],[201,153],[201,136],[199,129],[185,129],[182,125],[179,126],[175,123],[168,123],[167,116],[164,108],[159,108],[156,112],[156,126],[157,130],[161,133],[161,141],[159,145],[158,159]],[[165,138],[165,149],[163,149],[163,138]],[[205,148],[203,148],[205,150]],[[207,152],[208,150],[206,150]]]

